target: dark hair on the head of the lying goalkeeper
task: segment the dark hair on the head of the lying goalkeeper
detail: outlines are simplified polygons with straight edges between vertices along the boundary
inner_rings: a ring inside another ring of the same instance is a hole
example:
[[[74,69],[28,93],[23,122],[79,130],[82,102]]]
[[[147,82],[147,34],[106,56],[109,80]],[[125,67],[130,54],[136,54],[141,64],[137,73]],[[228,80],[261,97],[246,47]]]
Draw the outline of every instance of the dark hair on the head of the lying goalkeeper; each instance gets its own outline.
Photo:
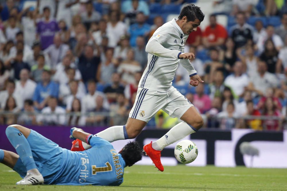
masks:
[[[137,142],[130,141],[123,147],[120,153],[125,160],[126,166],[133,166],[142,157],[142,149]]]

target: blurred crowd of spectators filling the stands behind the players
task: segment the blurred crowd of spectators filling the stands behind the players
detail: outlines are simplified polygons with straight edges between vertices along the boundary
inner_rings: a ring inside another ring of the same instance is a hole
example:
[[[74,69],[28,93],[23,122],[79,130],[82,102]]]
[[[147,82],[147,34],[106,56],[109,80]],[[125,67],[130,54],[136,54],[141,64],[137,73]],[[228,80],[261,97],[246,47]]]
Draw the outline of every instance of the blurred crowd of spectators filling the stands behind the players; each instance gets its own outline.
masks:
[[[0,124],[125,124],[148,65],[147,41],[190,2],[0,1]],[[205,127],[287,129],[286,1],[222,0],[207,8],[214,9],[209,25],[185,43],[204,83],[190,86],[179,65],[173,86]],[[218,15],[228,16],[226,26]],[[148,125],[179,121],[161,110]]]

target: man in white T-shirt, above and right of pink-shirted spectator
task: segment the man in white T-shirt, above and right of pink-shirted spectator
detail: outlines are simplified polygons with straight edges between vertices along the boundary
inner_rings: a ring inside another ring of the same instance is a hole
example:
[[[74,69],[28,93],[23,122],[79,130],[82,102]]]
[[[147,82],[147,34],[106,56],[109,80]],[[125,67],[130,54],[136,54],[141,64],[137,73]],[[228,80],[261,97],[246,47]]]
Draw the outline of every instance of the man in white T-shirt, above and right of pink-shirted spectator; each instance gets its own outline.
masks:
[[[248,86],[249,78],[243,74],[243,64],[240,61],[235,62],[233,66],[234,74],[230,74],[224,80],[224,84],[232,88],[237,97],[242,97],[244,88]]]

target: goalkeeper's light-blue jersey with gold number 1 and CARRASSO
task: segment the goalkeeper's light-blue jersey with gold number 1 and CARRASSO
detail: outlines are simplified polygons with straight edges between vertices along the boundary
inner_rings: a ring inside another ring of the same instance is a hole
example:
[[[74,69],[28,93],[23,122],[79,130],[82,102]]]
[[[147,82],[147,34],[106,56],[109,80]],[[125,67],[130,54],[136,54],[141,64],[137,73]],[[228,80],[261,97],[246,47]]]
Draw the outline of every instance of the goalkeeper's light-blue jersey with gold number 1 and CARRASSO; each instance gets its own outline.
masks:
[[[89,144],[92,148],[86,151],[63,149],[63,164],[54,184],[118,186],[123,182],[125,161],[121,154],[100,137],[92,136]]]

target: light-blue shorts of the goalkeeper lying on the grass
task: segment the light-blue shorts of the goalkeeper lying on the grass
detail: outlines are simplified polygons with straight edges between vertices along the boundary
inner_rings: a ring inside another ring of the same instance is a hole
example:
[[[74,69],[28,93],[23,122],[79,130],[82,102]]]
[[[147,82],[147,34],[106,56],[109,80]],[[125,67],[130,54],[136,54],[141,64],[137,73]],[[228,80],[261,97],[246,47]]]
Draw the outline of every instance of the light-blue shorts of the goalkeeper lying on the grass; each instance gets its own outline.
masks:
[[[44,184],[53,184],[56,181],[55,175],[61,170],[63,164],[62,147],[32,129],[27,140],[36,166],[44,178]],[[26,176],[27,170],[20,158],[13,170],[18,172],[22,178]]]

